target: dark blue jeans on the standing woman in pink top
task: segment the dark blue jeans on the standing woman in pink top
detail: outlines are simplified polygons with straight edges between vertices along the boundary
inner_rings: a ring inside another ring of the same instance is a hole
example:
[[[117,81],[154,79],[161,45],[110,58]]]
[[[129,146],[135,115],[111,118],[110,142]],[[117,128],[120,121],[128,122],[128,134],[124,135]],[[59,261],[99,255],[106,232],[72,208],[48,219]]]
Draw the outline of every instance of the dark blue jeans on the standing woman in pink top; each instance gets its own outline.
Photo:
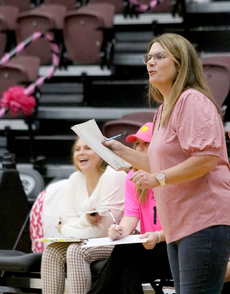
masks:
[[[230,226],[216,225],[167,245],[176,294],[221,294]]]

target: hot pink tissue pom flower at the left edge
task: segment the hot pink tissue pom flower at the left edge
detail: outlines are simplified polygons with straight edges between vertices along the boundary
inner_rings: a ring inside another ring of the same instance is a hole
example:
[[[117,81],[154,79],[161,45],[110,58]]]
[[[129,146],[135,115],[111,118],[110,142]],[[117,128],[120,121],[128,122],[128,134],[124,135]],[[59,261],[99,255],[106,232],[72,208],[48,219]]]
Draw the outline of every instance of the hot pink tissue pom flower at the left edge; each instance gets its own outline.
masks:
[[[24,91],[25,88],[21,86],[9,88],[3,93],[0,101],[1,107],[9,108],[12,113],[17,113],[20,109],[25,115],[32,115],[36,99],[33,96],[27,96]]]

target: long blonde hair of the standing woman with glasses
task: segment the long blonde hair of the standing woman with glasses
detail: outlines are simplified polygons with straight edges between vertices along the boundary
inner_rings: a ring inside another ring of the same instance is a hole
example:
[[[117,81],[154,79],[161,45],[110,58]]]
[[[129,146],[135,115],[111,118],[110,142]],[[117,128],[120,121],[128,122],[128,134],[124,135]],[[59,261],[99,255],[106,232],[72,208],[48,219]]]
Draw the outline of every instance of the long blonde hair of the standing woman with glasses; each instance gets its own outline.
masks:
[[[178,74],[175,77],[173,88],[169,97],[168,108],[163,113],[161,118],[160,123],[162,127],[166,126],[166,122],[171,114],[173,106],[186,88],[193,88],[200,91],[213,102],[219,114],[222,116],[221,109],[214,100],[203,75],[203,67],[200,57],[192,44],[181,35],[165,33],[160,36],[156,36],[150,42],[147,53],[149,53],[151,46],[156,42],[159,43],[165,51],[172,56],[176,64],[176,68],[178,69]],[[155,86],[150,84],[149,101],[151,102],[152,99],[160,104],[164,101],[160,91],[158,91]]]

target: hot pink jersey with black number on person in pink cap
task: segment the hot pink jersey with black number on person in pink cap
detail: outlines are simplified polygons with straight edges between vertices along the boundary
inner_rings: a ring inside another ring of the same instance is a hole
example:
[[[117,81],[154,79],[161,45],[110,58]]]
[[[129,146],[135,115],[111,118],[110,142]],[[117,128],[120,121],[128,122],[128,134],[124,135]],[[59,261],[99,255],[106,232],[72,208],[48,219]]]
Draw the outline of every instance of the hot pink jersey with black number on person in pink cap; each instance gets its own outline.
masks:
[[[124,216],[133,216],[140,219],[140,233],[161,231],[160,221],[156,212],[156,203],[153,191],[148,189],[148,196],[144,205],[136,199],[136,188],[133,181],[129,181],[133,170],[127,174],[125,181],[125,212]]]

